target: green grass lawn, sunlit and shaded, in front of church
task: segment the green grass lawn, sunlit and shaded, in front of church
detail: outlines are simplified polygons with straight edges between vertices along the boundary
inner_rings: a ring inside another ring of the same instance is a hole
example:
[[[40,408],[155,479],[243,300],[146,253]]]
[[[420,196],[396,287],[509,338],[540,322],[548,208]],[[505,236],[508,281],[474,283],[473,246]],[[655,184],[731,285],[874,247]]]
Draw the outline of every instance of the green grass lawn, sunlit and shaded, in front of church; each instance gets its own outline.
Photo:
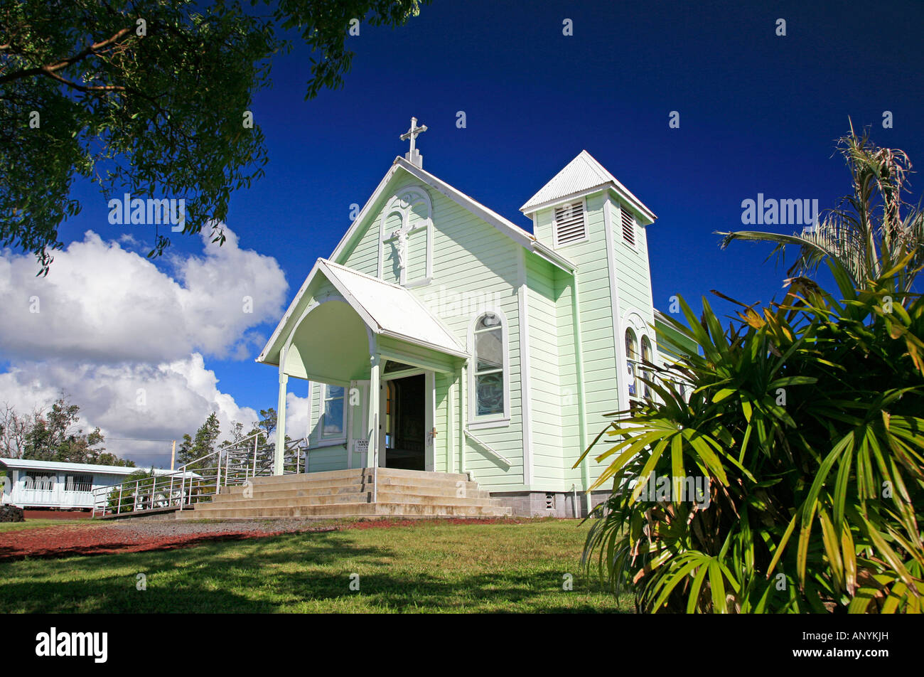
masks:
[[[631,612],[628,598],[580,575],[587,528],[421,523],[7,561],[0,599],[6,613]],[[563,590],[566,573],[573,591]]]

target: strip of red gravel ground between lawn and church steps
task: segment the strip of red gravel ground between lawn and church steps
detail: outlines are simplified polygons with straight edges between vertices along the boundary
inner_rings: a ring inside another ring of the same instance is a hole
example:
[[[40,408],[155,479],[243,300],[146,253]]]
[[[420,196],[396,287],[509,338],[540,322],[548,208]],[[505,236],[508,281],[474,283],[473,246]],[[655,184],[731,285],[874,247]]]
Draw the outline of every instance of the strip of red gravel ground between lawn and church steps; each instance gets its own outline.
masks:
[[[147,550],[190,548],[203,543],[245,540],[296,532],[329,532],[341,529],[383,529],[395,526],[422,527],[435,524],[515,523],[509,519],[485,520],[367,520],[336,526],[310,523],[121,523],[118,526],[69,523],[0,533],[0,562],[24,558],[61,558]],[[273,528],[275,527],[275,528]]]

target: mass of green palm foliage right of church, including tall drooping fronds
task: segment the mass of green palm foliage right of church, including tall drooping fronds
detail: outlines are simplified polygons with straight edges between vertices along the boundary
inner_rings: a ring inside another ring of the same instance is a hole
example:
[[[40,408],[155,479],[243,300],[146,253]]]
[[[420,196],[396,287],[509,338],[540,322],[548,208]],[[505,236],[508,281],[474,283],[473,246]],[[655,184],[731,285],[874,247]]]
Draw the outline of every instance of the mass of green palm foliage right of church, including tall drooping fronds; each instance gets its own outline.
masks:
[[[798,244],[791,275],[823,261],[840,299],[796,275],[783,302],[738,303],[727,331],[705,299],[699,318],[681,300],[687,326],[665,322],[698,349],[648,364],[657,398],[610,414],[578,461],[612,440],[591,488],[612,481],[613,494],[584,563],[640,611],[922,610],[921,216],[900,215],[904,153],[853,130],[842,142],[849,209],[815,234],[725,239]],[[708,481],[707,501],[645,491],[689,475]]]

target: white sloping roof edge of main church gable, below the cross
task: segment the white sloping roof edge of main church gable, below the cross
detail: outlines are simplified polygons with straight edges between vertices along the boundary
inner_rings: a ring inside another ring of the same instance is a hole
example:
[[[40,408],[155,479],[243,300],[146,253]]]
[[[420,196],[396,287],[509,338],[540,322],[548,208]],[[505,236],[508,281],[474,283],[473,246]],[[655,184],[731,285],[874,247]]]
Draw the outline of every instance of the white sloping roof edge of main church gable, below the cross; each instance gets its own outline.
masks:
[[[515,223],[508,221],[504,216],[497,214],[492,209],[484,206],[474,198],[466,195],[464,192],[456,190],[441,178],[436,178],[430,172],[424,171],[419,166],[412,165],[403,157],[395,157],[395,162],[392,163],[391,169],[388,170],[388,173],[385,174],[385,176],[379,182],[379,185],[376,187],[375,191],[372,192],[369,200],[367,200],[362,209],[359,210],[359,215],[353,221],[353,225],[350,226],[350,228],[344,234],[344,237],[337,244],[336,249],[334,249],[334,253],[331,254],[331,261],[337,261],[341,254],[346,252],[346,248],[353,240],[353,237],[357,234],[360,225],[363,223],[366,216],[370,214],[375,203],[382,196],[385,188],[388,186],[388,183],[395,176],[395,173],[399,169],[403,169],[412,177],[416,178],[421,183],[425,183],[426,185],[430,186],[433,190],[441,193],[448,199],[452,200],[454,203],[461,206],[463,209],[467,209],[472,214],[479,216],[483,221],[486,221],[494,228],[497,228],[508,238],[514,240],[520,246],[525,247],[527,251],[541,256],[541,258],[545,259],[552,265],[561,268],[567,273],[574,272],[576,265],[567,257],[558,252],[555,252],[548,245],[542,244],[539,240],[536,240],[536,238],[533,237],[531,233],[524,230],[523,228],[520,228]]]

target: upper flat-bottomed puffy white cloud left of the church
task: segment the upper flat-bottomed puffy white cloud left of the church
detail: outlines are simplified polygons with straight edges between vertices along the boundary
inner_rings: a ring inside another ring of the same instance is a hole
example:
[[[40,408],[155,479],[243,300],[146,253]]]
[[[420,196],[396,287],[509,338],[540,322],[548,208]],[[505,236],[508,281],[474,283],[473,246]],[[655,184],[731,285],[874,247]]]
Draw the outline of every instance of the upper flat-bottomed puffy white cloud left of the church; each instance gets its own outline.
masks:
[[[273,257],[242,250],[237,235],[226,227],[225,234],[219,247],[203,231],[201,256],[174,255],[176,278],[92,231],[55,254],[48,277],[35,277],[30,255],[0,252],[4,357],[91,363],[159,363],[193,351],[246,357],[265,339],[253,327],[282,314],[286,277]]]

